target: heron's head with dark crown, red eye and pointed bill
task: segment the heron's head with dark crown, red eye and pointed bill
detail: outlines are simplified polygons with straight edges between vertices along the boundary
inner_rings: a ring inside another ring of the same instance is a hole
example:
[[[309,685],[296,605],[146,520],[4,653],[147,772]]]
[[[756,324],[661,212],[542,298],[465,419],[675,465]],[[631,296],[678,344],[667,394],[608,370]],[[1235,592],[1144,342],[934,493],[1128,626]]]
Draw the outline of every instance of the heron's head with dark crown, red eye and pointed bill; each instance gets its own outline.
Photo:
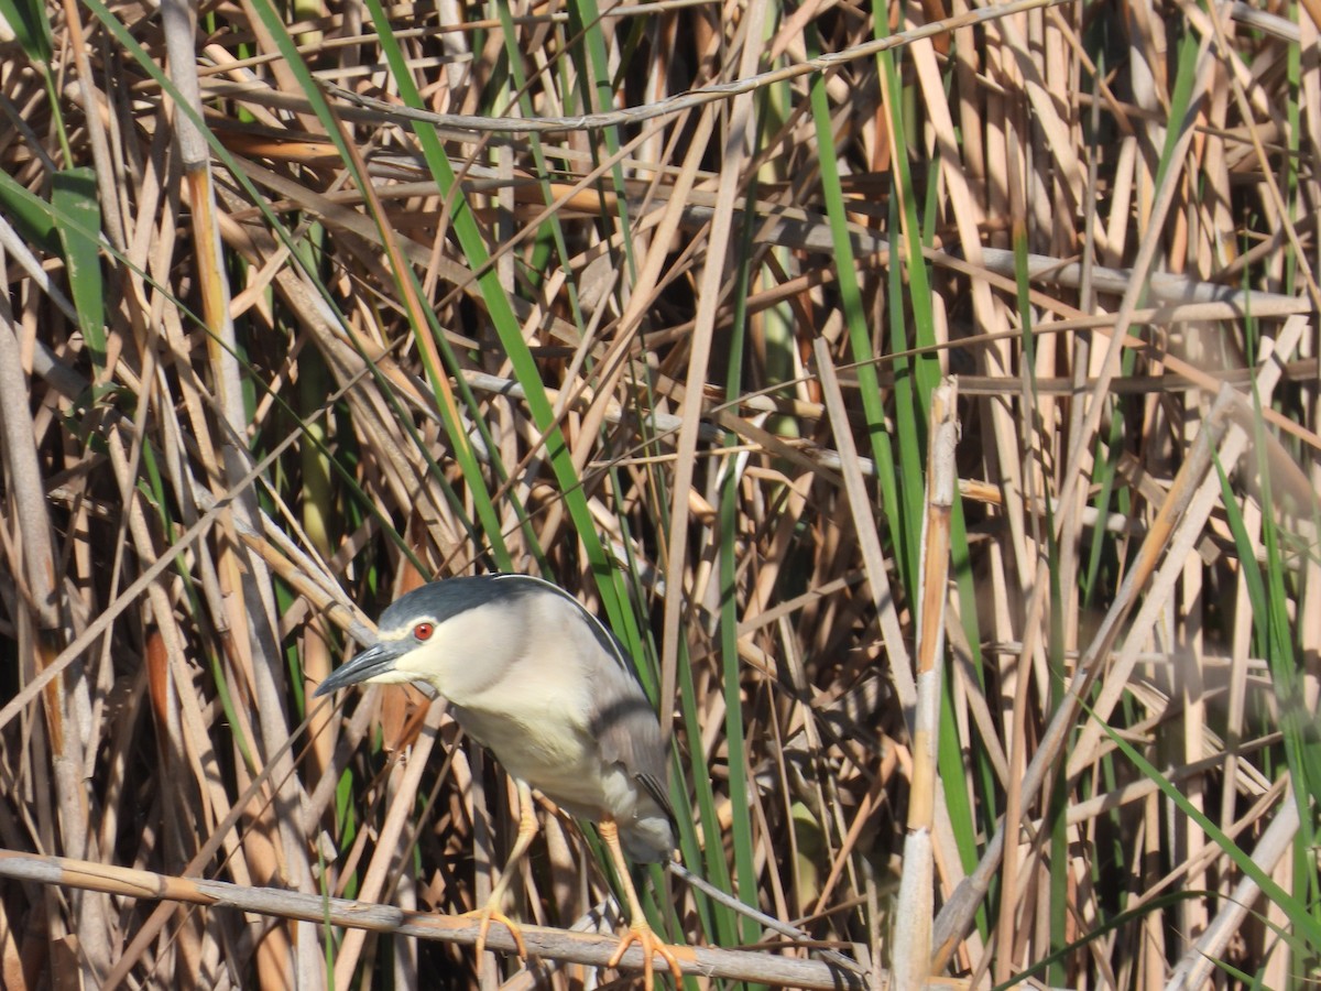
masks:
[[[336,669],[316,694],[358,683],[428,682],[462,704],[464,690],[477,675],[474,659],[481,659],[486,677],[497,674],[524,638],[519,624],[511,622],[524,585],[501,577],[446,579],[402,596],[380,614],[376,642]]]

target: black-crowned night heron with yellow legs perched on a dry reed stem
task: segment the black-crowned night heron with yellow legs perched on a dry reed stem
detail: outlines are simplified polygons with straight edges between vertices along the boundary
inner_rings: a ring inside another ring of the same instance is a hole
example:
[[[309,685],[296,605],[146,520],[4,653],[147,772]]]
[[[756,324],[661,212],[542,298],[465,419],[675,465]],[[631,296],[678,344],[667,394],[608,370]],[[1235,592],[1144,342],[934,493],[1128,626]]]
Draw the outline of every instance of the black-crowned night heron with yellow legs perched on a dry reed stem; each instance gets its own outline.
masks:
[[[629,900],[629,933],[609,961],[641,943],[646,979],[659,953],[675,978],[679,961],[646,922],[624,859],[668,862],[674,813],[666,794],[660,724],[618,640],[576,599],[528,575],[435,581],[392,603],[378,640],[317,688],[359,682],[425,682],[449,700],[465,732],[483,744],[518,785],[518,839],[485,908],[481,959],[513,868],[536,834],[528,786],[572,815],[597,823]]]

